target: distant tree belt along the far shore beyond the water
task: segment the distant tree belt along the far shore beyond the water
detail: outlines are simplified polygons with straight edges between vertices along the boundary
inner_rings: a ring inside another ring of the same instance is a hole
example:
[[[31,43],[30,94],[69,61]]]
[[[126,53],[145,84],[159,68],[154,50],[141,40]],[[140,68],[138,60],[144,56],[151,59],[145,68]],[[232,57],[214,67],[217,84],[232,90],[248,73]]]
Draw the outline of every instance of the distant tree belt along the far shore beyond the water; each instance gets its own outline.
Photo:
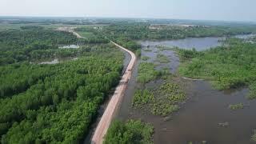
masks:
[[[188,37],[218,37],[234,34],[256,33],[256,26],[178,26],[151,25],[148,22],[117,22],[104,26],[102,32],[109,38],[129,38],[131,40],[178,39]]]

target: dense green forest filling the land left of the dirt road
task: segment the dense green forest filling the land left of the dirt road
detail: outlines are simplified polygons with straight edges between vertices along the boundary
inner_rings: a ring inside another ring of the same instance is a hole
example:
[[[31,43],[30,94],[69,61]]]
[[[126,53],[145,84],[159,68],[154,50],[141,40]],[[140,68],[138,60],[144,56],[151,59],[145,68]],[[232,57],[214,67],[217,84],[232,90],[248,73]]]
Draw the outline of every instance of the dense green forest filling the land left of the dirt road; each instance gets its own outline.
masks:
[[[38,26],[0,32],[1,143],[77,143],[118,84],[122,52]],[[102,42],[100,42],[102,43]],[[37,57],[35,56],[37,55]],[[54,65],[38,59],[78,57]]]

